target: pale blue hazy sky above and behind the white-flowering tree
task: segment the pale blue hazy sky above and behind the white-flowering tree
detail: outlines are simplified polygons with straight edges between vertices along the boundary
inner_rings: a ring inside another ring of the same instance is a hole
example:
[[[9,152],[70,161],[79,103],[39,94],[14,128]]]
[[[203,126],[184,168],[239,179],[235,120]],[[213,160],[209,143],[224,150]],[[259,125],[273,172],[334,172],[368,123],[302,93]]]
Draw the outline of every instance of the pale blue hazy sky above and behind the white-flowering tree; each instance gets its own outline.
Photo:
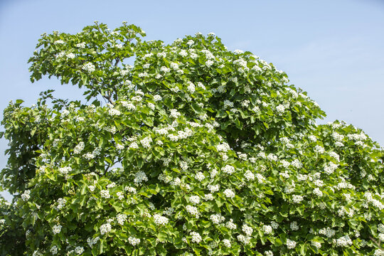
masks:
[[[32,84],[27,61],[42,33],[78,33],[94,21],[112,29],[134,23],[146,40],[164,43],[214,32],[228,49],[284,70],[326,112],[318,124],[344,120],[384,146],[384,1],[0,0],[1,113],[10,100],[32,105],[48,89],[82,99],[77,87],[55,79]],[[0,169],[7,143],[0,139]]]

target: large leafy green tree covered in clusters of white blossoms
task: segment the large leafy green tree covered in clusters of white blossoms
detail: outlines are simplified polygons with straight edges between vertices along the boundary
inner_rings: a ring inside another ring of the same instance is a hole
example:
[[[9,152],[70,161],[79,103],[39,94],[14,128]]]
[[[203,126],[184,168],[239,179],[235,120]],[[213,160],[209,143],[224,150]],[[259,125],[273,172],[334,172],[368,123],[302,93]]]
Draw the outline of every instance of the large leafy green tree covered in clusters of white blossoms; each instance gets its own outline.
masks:
[[[142,36],[42,35],[31,81],[87,103],[4,110],[3,255],[384,255],[377,143],[213,33]]]

